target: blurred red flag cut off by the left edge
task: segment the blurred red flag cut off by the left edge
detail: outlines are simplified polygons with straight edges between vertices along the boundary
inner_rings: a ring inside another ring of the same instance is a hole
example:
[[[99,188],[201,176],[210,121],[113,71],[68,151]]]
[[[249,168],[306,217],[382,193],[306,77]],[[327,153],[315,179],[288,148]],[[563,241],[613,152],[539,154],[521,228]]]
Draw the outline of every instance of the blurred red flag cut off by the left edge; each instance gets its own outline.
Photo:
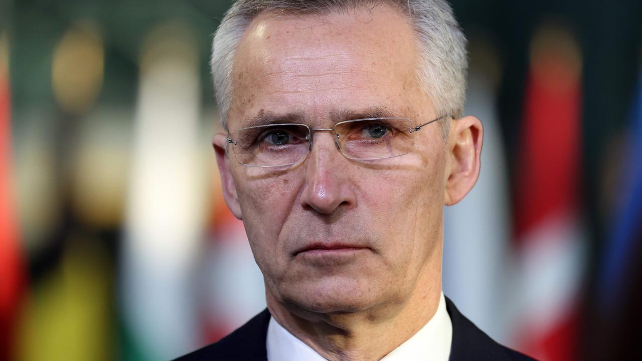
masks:
[[[11,360],[24,265],[13,209],[8,40],[0,33],[0,360]]]

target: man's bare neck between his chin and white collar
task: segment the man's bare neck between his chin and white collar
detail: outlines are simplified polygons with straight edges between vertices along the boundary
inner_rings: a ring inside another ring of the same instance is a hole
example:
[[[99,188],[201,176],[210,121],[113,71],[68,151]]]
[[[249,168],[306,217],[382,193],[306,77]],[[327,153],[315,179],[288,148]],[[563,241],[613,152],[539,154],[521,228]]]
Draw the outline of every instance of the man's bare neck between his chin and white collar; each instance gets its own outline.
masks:
[[[309,312],[279,302],[266,288],[272,317],[327,360],[380,360],[410,339],[437,312],[441,296],[441,252],[426,263],[405,303],[349,313]]]

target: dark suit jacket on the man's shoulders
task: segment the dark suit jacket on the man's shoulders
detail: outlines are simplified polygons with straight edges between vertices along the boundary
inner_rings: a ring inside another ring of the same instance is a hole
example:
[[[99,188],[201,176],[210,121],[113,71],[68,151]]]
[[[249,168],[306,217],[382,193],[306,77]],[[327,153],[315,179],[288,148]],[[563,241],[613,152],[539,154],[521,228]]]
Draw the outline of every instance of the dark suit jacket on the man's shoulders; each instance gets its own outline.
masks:
[[[446,310],[453,322],[453,342],[449,360],[532,360],[490,339],[464,317],[448,298]],[[268,359],[265,340],[269,321],[270,313],[267,309],[263,310],[219,342],[177,358],[176,361],[265,361]]]

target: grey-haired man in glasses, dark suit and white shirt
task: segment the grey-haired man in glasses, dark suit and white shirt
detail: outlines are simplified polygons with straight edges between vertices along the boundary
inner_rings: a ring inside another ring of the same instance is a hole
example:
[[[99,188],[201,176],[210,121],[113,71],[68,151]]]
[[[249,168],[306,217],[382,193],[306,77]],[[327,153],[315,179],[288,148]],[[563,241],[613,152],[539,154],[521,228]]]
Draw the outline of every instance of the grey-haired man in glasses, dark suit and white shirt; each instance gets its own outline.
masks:
[[[181,360],[521,360],[441,291],[442,209],[480,171],[443,0],[239,0],[212,71],[223,195],[267,310]]]

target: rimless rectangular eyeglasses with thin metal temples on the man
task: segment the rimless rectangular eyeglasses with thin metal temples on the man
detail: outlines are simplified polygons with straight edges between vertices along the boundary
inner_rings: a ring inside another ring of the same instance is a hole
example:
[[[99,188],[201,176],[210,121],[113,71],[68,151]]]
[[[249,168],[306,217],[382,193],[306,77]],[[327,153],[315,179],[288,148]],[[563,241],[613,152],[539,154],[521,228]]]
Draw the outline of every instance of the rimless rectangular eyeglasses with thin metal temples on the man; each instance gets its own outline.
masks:
[[[422,127],[410,118],[365,118],[340,121],[333,128],[312,129],[305,124],[282,123],[240,128],[227,137],[238,163],[252,167],[293,166],[312,150],[313,132],[334,132],[334,145],[348,159],[374,161],[413,151],[414,134]]]

